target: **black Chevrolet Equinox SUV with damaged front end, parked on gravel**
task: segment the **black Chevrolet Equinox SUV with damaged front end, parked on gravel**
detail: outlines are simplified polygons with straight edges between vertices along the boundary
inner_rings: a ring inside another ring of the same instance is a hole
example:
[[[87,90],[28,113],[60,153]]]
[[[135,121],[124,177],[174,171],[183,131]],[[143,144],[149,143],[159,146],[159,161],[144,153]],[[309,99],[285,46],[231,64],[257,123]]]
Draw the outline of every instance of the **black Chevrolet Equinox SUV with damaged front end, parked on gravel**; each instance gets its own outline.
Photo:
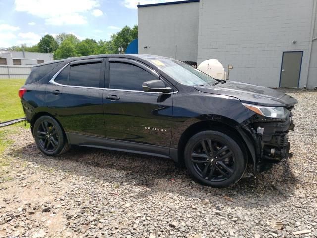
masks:
[[[185,163],[201,183],[226,187],[288,157],[297,100],[216,80],[178,60],[95,55],[33,67],[19,96],[46,155],[70,145]]]

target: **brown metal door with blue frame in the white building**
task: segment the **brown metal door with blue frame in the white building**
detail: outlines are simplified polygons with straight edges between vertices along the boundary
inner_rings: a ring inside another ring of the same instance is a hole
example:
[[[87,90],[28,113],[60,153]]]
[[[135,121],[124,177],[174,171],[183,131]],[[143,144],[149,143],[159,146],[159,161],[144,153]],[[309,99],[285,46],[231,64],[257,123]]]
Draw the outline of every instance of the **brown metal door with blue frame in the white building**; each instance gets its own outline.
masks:
[[[297,88],[303,52],[283,52],[280,87]]]

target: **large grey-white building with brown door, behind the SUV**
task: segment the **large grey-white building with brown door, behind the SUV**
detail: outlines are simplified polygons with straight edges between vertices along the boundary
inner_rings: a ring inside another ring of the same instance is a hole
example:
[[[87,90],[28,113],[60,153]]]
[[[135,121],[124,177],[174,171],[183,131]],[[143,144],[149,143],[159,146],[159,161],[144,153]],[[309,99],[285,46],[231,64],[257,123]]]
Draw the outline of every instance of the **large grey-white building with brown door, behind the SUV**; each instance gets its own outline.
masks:
[[[188,0],[138,5],[138,49],[218,59],[230,80],[317,87],[317,0]]]

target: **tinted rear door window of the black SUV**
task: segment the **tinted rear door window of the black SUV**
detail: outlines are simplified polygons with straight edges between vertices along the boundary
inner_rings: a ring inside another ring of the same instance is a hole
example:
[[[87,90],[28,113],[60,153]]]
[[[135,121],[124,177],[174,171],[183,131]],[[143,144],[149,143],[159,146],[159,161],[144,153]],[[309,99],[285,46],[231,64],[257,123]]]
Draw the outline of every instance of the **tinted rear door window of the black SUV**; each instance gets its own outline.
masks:
[[[101,63],[79,64],[70,67],[68,85],[99,87]]]

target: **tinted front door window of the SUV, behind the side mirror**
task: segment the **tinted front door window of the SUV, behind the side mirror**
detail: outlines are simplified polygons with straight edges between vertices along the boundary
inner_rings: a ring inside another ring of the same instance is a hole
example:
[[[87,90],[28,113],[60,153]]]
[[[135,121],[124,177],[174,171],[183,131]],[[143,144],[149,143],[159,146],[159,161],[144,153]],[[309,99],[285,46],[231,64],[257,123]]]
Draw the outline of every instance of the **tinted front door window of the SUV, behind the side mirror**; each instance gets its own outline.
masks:
[[[110,88],[142,91],[142,83],[158,79],[151,73],[128,63],[110,63]]]

